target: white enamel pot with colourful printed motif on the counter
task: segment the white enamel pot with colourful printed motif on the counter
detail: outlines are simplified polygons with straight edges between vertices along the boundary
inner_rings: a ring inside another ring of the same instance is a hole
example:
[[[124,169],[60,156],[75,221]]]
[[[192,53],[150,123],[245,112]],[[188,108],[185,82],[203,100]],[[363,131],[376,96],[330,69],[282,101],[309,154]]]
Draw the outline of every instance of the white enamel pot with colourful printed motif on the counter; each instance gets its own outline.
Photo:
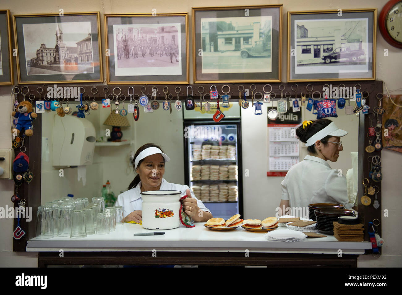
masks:
[[[144,191],[142,227],[148,230],[170,230],[180,225],[181,191]]]

